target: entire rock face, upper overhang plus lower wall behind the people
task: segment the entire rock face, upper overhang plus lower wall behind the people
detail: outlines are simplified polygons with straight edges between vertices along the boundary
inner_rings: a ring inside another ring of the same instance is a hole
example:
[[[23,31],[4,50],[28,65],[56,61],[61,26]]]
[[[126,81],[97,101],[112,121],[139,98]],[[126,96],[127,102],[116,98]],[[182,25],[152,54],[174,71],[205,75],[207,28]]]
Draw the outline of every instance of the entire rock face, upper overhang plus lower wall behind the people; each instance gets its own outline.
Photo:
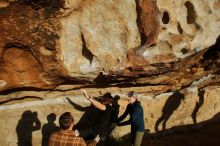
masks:
[[[219,36],[219,0],[1,0],[0,123],[7,126],[0,133],[8,135],[1,145],[16,145],[23,114],[41,128],[67,110],[78,121],[83,113],[65,97],[88,105],[79,88],[122,96],[120,112],[128,91],[140,93],[150,133],[217,120]],[[42,133],[32,136],[40,145]]]

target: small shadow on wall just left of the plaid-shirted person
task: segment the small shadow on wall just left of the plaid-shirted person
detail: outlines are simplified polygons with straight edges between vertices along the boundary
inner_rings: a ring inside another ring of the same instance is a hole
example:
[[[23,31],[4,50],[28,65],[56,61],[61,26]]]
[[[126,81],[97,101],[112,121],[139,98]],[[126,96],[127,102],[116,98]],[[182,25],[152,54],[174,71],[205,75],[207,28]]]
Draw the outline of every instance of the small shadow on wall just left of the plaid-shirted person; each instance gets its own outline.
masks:
[[[50,135],[54,131],[58,131],[59,127],[56,126],[54,123],[56,120],[56,115],[54,113],[51,113],[47,116],[47,123],[43,125],[42,127],[42,146],[48,146]]]

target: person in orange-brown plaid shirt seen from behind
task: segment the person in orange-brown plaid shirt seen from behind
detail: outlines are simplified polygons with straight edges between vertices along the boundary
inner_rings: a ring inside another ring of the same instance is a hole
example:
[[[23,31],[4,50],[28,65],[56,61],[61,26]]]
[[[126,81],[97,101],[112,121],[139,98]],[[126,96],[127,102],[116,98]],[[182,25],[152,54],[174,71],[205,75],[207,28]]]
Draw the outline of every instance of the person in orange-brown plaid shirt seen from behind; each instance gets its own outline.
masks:
[[[88,145],[79,132],[73,131],[74,117],[70,112],[63,113],[59,118],[60,130],[53,132],[49,139],[49,146],[96,146],[99,142],[99,135],[94,138]]]

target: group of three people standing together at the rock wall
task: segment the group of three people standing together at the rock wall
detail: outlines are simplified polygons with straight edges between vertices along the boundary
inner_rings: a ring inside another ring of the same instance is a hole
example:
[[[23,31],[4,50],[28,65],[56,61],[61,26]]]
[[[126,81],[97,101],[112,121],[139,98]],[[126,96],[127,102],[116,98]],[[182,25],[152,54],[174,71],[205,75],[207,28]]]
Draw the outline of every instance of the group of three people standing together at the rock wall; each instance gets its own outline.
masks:
[[[73,115],[70,112],[65,112],[59,118],[60,130],[50,136],[49,146],[95,146],[100,143],[104,144],[116,126],[124,125],[131,125],[131,145],[141,146],[145,130],[144,113],[140,102],[137,100],[136,92],[130,91],[128,93],[127,108],[118,117],[118,109],[110,93],[97,100],[89,96],[86,90],[81,91],[84,97],[100,112],[95,125],[78,130],[74,126]],[[130,115],[129,120],[124,121],[128,115]]]

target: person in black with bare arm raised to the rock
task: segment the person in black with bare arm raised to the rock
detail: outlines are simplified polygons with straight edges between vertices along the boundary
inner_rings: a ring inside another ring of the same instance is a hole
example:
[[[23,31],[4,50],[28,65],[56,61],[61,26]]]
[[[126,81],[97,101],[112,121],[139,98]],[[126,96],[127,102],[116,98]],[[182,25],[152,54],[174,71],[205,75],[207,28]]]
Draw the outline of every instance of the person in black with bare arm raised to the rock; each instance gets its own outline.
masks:
[[[97,134],[100,135],[100,143],[105,143],[105,140],[109,136],[111,118],[113,114],[113,97],[111,93],[105,93],[101,98],[100,101],[92,98],[86,92],[86,90],[81,89],[84,94],[84,97],[91,102],[93,106],[98,109],[99,117],[95,121],[95,125],[90,128],[90,131],[87,130],[87,135],[93,135],[93,137]],[[83,132],[85,133],[85,132]],[[90,136],[91,137],[91,136]]]

